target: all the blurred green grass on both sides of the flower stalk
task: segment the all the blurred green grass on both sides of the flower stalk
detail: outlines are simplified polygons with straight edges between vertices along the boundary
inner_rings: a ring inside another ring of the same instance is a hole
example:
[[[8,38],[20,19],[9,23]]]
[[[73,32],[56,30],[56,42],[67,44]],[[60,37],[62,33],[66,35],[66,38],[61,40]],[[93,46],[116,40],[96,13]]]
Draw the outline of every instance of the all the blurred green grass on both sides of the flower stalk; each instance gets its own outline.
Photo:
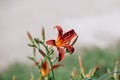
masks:
[[[77,51],[79,51],[79,49]],[[108,68],[113,71],[114,61],[116,59],[120,61],[119,43],[114,46],[114,48],[82,48],[82,54],[78,54],[77,51],[73,55],[66,56],[62,61],[62,64],[64,66],[55,70],[56,80],[70,80],[70,74],[74,67],[78,72],[80,72],[78,56],[82,56],[83,58],[86,73],[97,65],[101,66],[101,69],[95,74],[96,79],[104,75],[107,72]],[[36,67],[33,68],[32,66],[28,66],[25,63],[14,63],[11,64],[8,69],[0,72],[0,80],[12,80],[13,75],[16,76],[17,80],[30,80],[31,73],[33,73],[36,80],[38,80],[39,71]]]

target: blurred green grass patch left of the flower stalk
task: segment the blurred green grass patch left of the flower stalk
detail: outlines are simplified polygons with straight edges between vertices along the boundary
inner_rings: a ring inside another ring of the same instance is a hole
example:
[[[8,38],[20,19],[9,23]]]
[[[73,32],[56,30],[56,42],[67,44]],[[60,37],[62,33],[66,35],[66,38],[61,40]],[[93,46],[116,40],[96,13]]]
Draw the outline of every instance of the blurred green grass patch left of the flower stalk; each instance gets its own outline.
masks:
[[[0,80],[12,80],[14,75],[17,77],[17,80],[30,80],[32,73],[34,73],[36,78],[38,78],[38,70],[31,68],[24,63],[16,62],[0,73]]]

